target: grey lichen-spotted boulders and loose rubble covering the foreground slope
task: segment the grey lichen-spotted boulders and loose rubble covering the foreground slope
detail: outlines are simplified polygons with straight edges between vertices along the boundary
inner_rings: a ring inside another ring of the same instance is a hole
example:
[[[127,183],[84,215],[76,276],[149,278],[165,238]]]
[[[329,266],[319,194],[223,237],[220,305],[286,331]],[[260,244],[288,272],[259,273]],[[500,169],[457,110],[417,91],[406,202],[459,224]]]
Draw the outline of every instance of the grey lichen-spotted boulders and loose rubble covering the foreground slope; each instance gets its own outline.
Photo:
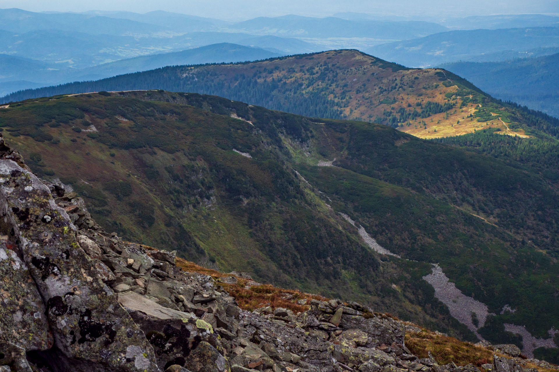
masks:
[[[419,328],[355,302],[242,310],[221,284],[246,275],[185,272],[174,252],[106,233],[1,138],[0,207],[0,372],[479,371],[420,359],[404,344]],[[482,371],[555,368],[493,349]]]

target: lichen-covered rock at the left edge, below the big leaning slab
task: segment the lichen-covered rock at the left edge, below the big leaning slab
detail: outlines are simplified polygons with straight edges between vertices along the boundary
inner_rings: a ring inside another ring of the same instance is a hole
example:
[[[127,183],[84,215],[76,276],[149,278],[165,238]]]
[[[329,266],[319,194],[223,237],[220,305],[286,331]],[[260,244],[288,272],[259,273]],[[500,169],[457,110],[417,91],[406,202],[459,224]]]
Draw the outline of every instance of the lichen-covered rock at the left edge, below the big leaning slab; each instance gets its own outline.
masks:
[[[0,303],[0,342],[11,342],[25,351],[53,346],[42,298],[17,246],[7,236],[0,237]]]

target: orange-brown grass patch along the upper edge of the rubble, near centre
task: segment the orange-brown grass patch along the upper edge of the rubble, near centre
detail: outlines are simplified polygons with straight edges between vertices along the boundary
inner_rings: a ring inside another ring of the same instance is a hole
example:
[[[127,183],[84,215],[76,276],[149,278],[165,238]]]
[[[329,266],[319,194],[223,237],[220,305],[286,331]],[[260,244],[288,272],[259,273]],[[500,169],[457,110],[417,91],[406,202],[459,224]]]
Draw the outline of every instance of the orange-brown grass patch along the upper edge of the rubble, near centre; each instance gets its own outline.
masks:
[[[187,261],[177,257],[177,267],[187,272],[196,272],[206,274],[214,279],[231,276],[230,274],[220,273],[217,270],[207,269],[193,262]],[[307,299],[307,304],[310,299],[319,299],[325,301],[327,298],[317,296],[316,294],[303,293],[301,291],[293,291],[292,289],[282,289],[271,286],[269,284],[262,284],[259,286],[247,287],[248,280],[237,278],[237,283],[227,284],[220,283],[220,285],[235,298],[239,307],[243,310],[253,311],[256,308],[263,306],[270,306],[272,308],[285,307],[295,313],[300,311],[309,310],[309,305],[299,305],[297,301],[300,299]],[[283,298],[286,297],[286,298]]]

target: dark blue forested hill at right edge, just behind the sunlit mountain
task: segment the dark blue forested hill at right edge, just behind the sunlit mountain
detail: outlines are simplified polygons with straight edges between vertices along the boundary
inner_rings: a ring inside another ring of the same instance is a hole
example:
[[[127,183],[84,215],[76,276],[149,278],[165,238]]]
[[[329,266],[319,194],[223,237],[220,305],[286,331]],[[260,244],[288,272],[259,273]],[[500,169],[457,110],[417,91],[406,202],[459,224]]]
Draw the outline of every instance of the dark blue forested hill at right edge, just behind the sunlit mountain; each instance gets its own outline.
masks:
[[[441,67],[496,98],[559,117],[559,54],[503,62],[454,62]]]

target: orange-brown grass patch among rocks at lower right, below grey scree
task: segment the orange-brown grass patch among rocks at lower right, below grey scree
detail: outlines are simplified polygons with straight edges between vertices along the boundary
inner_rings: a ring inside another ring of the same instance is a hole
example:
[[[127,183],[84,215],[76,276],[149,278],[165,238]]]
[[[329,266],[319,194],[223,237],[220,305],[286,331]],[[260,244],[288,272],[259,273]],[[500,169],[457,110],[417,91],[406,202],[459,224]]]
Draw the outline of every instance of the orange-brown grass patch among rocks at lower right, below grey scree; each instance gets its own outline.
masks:
[[[427,330],[419,333],[406,332],[405,342],[408,349],[420,358],[427,358],[429,351],[438,364],[451,362],[457,365],[491,363],[494,352],[470,342],[459,341],[454,337],[437,335]]]

